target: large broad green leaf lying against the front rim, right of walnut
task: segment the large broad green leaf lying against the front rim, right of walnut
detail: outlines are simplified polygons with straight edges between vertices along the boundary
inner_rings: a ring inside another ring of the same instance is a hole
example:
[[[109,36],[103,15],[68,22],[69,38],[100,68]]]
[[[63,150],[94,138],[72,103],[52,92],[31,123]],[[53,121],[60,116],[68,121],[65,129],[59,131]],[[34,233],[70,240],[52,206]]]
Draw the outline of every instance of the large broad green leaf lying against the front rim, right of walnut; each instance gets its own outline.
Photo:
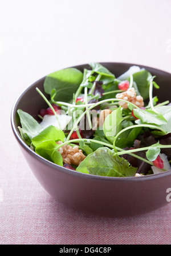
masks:
[[[135,176],[137,168],[130,166],[127,160],[111,149],[103,147],[89,156],[87,170],[92,175],[127,177]]]

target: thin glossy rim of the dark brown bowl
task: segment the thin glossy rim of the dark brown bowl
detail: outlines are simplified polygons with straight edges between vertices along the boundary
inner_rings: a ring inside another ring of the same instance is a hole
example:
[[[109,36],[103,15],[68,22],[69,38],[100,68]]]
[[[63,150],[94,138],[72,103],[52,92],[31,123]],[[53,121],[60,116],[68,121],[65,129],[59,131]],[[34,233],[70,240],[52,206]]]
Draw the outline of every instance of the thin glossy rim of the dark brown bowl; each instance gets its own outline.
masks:
[[[145,69],[153,69],[154,71],[158,71],[161,72],[163,74],[166,74],[168,76],[171,77],[171,73],[166,72],[165,70],[161,70],[161,69],[157,69],[157,68],[153,68],[150,66],[146,66],[146,65],[140,65],[140,64],[133,64],[133,63],[129,63],[129,62],[98,62],[101,65],[105,65],[105,64],[115,64],[115,65],[128,65],[128,66],[140,66],[140,68],[145,68]],[[79,64],[79,65],[74,65],[74,66],[69,66],[67,68],[81,68],[82,66],[85,66],[88,64]],[[60,70],[60,69],[58,69]],[[129,177],[111,177],[111,176],[99,176],[99,175],[92,175],[92,174],[85,174],[83,172],[77,172],[74,170],[69,170],[68,168],[62,167],[62,166],[58,166],[58,164],[52,163],[49,160],[45,159],[44,157],[38,155],[35,151],[33,151],[26,143],[25,141],[23,141],[21,135],[19,135],[19,132],[17,130],[17,128],[15,127],[15,113],[17,112],[17,104],[19,102],[19,100],[22,98],[22,96],[33,86],[35,86],[39,81],[44,80],[46,76],[40,78],[39,80],[36,80],[34,83],[32,83],[30,86],[28,86],[26,89],[23,90],[23,92],[17,97],[17,99],[15,100],[13,107],[11,109],[11,128],[12,131],[14,133],[15,139],[17,139],[18,143],[22,146],[23,149],[25,149],[31,156],[35,157],[35,159],[37,159],[38,161],[42,162],[43,164],[45,164],[48,167],[53,168],[56,171],[60,171],[60,172],[64,172],[65,174],[69,174],[69,175],[74,175],[74,176],[79,176],[80,178],[86,178],[86,179],[97,179],[97,180],[103,180],[103,181],[117,181],[117,182],[137,182],[137,181],[143,181],[143,180],[151,180],[151,179],[157,179],[157,178],[162,178],[165,176],[169,176],[171,174],[171,169],[165,172],[162,172],[160,174],[151,174],[151,175],[144,175],[144,176],[129,176]]]

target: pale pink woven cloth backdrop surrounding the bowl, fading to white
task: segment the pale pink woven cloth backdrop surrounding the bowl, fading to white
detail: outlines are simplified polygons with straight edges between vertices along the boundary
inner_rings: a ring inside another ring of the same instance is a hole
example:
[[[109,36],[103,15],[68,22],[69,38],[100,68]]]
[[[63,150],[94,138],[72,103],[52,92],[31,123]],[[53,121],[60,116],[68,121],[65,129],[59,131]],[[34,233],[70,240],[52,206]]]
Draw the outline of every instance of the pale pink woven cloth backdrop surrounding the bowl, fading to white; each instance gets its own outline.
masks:
[[[56,202],[32,174],[10,125],[19,94],[67,66],[123,61],[171,72],[170,7],[170,0],[1,1],[1,245],[171,243],[171,204],[119,219]]]

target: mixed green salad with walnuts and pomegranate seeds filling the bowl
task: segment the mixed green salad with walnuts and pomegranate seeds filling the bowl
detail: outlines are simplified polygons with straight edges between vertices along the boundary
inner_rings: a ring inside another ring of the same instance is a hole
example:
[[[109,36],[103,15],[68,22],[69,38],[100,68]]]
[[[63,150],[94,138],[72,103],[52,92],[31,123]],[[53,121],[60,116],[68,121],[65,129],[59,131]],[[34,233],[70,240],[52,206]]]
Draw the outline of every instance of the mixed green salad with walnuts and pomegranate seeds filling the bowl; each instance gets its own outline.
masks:
[[[146,176],[171,169],[171,105],[155,76],[133,65],[119,77],[99,63],[48,74],[35,119],[18,109],[19,132],[38,155],[88,175]],[[48,95],[48,97],[47,97]]]

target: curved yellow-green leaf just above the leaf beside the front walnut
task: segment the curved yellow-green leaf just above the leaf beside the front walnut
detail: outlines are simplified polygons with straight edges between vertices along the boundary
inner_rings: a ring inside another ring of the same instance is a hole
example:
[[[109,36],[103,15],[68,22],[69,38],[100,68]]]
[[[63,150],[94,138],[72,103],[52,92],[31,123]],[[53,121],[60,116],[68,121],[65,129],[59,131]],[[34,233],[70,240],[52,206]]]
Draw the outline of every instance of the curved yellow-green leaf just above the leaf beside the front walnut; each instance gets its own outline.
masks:
[[[54,140],[54,141],[64,141],[65,135],[62,130],[55,127],[54,125],[50,125],[44,128],[38,135],[32,137],[32,144],[36,147],[42,141],[45,140]]]

